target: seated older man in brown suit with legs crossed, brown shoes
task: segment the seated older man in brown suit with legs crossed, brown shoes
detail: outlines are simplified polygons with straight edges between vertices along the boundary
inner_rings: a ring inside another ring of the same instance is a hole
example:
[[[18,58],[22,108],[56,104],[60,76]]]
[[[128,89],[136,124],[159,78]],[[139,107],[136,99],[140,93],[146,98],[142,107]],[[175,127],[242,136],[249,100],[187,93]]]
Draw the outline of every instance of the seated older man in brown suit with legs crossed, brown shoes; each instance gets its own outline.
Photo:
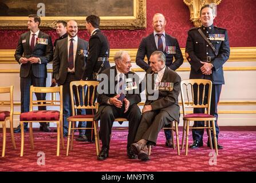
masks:
[[[154,51],[149,62],[151,68],[147,70],[143,81],[147,86],[147,100],[142,109],[136,143],[131,145],[133,152],[142,161],[149,160],[147,145],[155,145],[164,125],[179,121],[180,116],[180,76],[166,66],[166,56],[162,51]],[[153,87],[149,83],[153,83]]]

